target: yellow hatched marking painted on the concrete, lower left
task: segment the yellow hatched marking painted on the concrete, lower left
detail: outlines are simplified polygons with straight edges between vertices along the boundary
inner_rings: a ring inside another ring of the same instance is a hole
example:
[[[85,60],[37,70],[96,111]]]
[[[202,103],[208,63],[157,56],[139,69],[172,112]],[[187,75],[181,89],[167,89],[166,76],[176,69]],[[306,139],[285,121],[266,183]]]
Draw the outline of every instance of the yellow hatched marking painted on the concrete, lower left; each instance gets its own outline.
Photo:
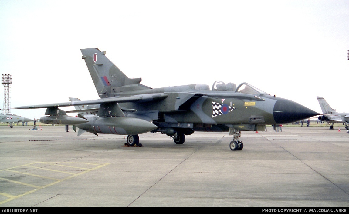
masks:
[[[36,165],[36,166],[34,166],[34,165]],[[42,166],[38,167],[38,165],[42,165]],[[75,166],[70,166],[70,165],[75,165]],[[1,173],[3,173],[3,172],[13,172],[13,173],[16,173],[16,174],[11,174],[11,175],[7,175],[7,176],[4,175],[2,178],[0,178],[0,180],[2,180],[2,181],[18,185],[18,186],[15,186],[15,187],[11,187],[12,189],[16,188],[17,192],[18,192],[18,189],[20,189],[22,186],[31,187],[33,189],[29,190],[29,191],[26,191],[26,192],[23,192],[23,193],[21,193],[19,195],[16,195],[16,196],[14,196],[14,195],[12,195],[10,193],[7,193],[7,192],[0,192],[1,196],[7,197],[7,199],[0,201],[0,204],[4,204],[4,203],[6,203],[8,201],[11,201],[13,199],[16,199],[16,198],[28,195],[28,194],[30,194],[32,192],[35,192],[37,190],[40,190],[40,189],[43,189],[43,188],[46,188],[46,187],[50,187],[50,186],[52,186],[54,184],[57,184],[59,182],[62,182],[62,181],[71,179],[73,177],[82,175],[84,173],[96,170],[96,169],[104,167],[106,165],[109,165],[109,163],[35,162],[35,163],[31,163],[31,164],[24,164],[24,165],[21,165],[21,166],[10,167],[10,168],[7,168],[7,169],[1,169],[0,170],[0,176],[1,176]],[[50,169],[50,167],[55,167],[55,166],[62,167],[63,169],[62,170]],[[25,169],[25,168],[23,169],[23,167],[28,167],[28,168],[33,168],[33,169]],[[67,168],[64,169],[64,167],[67,167]],[[91,168],[89,168],[89,167],[91,167]],[[19,171],[20,169],[21,170],[26,170],[27,172],[21,172],[21,171]],[[66,172],[68,170],[74,170],[74,169],[75,170],[76,169],[80,169],[80,170],[83,170],[83,171],[79,172],[79,173]],[[47,170],[47,171],[52,172],[52,174],[53,174],[52,176],[54,176],[55,175],[54,173],[57,172],[57,173],[59,173],[59,174],[57,174],[57,176],[62,176],[61,173],[64,173],[64,174],[67,174],[66,175],[67,177],[64,177],[62,179],[57,179],[55,177],[48,177],[48,176],[38,175],[40,172],[42,172],[42,170]],[[32,173],[28,173],[28,171],[30,171]],[[34,173],[38,173],[38,174],[34,174]],[[30,182],[26,183],[26,182],[14,181],[14,180],[10,179],[11,176],[18,175],[18,174],[27,175],[26,178],[28,178],[29,176],[39,177],[40,179],[42,179],[42,181],[40,181],[40,183],[45,182],[44,180],[47,179],[47,180],[50,180],[50,183],[48,183],[46,185],[43,185],[43,186],[38,186],[38,185],[35,185],[33,183],[30,183]],[[6,178],[6,177],[8,177],[8,178]],[[52,182],[52,180],[53,180],[53,182]],[[6,189],[6,183],[2,184],[2,189]]]

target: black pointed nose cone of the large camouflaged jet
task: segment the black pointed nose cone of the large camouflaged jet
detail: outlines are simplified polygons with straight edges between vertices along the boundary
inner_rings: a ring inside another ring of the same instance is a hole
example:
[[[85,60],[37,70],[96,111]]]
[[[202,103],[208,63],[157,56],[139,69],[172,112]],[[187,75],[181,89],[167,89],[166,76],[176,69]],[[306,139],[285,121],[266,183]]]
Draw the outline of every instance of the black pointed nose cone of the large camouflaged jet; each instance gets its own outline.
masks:
[[[319,113],[296,102],[278,97],[273,114],[276,124],[288,124],[316,116]]]

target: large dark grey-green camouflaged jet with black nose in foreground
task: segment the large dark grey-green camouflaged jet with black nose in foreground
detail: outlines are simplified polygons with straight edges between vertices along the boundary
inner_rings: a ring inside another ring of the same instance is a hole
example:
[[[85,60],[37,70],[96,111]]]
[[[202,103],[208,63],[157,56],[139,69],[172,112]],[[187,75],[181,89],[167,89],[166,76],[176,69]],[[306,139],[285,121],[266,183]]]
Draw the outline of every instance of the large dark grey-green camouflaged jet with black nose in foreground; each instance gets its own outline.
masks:
[[[243,148],[239,138],[242,130],[264,131],[266,125],[288,124],[319,114],[246,82],[236,87],[233,83],[216,81],[211,89],[202,84],[150,88],[140,84],[141,78],[125,76],[105,56],[105,51],[87,48],[81,52],[100,99],[17,108],[47,108],[47,116],[40,118],[41,122],[76,124],[78,134],[87,131],[96,135],[128,135],[130,146],[140,145],[139,134],[146,132],[164,133],[176,144],[183,144],[185,136],[195,131],[228,132],[232,135],[231,150]],[[87,105],[90,109],[74,110],[85,112],[78,117],[69,117],[59,109]]]

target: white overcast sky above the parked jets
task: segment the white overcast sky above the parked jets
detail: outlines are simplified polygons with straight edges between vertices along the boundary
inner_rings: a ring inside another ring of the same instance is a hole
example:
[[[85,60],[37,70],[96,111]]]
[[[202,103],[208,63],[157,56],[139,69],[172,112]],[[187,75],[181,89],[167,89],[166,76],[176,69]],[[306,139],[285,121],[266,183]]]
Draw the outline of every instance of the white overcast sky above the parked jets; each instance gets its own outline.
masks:
[[[0,71],[12,75],[11,107],[96,99],[80,51],[95,47],[152,88],[248,82],[349,112],[348,27],[347,0],[0,0]]]

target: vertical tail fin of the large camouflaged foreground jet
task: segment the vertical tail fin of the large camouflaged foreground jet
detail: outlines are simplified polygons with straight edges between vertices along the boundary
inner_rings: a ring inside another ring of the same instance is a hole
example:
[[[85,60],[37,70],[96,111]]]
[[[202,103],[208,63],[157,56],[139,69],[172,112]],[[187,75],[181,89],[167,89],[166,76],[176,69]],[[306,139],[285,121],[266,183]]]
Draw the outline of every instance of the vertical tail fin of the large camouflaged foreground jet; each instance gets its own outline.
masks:
[[[113,93],[122,92],[124,90],[119,88],[123,86],[140,85],[141,78],[128,78],[105,56],[105,51],[102,52],[97,48],[87,48],[81,49],[81,53],[99,97],[110,97],[113,96],[111,95]],[[128,90],[132,89],[137,89],[137,87],[128,88]]]

